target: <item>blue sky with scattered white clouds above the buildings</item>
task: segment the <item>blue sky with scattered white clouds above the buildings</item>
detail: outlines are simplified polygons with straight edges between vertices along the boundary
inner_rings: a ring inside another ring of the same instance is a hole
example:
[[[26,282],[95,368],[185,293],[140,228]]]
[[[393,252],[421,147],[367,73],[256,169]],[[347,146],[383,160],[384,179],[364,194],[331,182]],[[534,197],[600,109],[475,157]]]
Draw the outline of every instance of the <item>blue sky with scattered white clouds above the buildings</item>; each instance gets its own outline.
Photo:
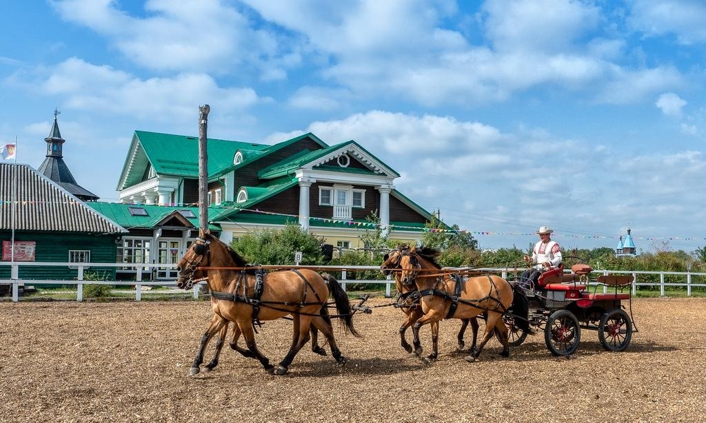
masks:
[[[706,245],[699,0],[51,0],[0,16],[0,144],[102,201],[135,130],[355,140],[482,248]]]

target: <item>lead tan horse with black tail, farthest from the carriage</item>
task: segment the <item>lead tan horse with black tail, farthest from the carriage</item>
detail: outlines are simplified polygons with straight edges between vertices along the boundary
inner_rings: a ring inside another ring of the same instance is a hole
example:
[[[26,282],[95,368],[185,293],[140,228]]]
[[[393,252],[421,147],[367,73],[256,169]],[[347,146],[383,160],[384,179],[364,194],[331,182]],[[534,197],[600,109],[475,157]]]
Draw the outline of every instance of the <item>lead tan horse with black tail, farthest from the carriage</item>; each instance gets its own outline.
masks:
[[[333,295],[339,314],[337,317],[342,319],[344,329],[354,336],[360,334],[353,326],[352,307],[348,297],[333,276],[322,276],[310,269],[273,271],[263,276],[255,266],[247,266],[246,261],[228,245],[203,230],[177,264],[177,286],[191,288],[193,276],[200,270],[199,267],[204,268],[208,277],[206,283],[211,291],[214,315],[201,338],[189,375],[201,371],[206,345],[215,333],[220,332],[225,336],[229,321],[237,325],[237,331],[244,336],[249,352],[260,361],[265,370],[273,374],[289,372],[294,357],[309,341],[312,324],[326,337],[336,362],[347,362],[336,344],[328,313],[324,311],[329,293]],[[258,350],[254,324],[286,316],[294,320],[292,345],[285,358],[275,367]],[[222,345],[216,345],[219,352],[220,347]]]

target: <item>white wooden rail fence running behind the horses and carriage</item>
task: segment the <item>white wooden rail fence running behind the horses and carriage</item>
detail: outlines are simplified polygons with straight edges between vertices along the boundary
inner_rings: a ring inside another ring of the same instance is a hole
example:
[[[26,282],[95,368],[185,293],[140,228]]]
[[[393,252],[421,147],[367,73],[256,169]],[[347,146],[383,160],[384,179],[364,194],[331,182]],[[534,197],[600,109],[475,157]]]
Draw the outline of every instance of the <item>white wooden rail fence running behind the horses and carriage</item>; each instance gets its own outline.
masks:
[[[11,267],[11,276],[9,279],[0,279],[0,285],[11,285],[12,286],[12,300],[14,302],[17,302],[19,300],[19,287],[20,285],[32,285],[32,284],[40,284],[40,285],[56,285],[56,286],[65,286],[65,285],[76,285],[76,301],[83,301],[83,286],[86,284],[95,284],[95,285],[111,285],[111,286],[134,286],[135,289],[135,300],[140,301],[142,299],[142,287],[143,286],[167,286],[167,287],[174,287],[176,288],[176,281],[174,280],[163,280],[163,281],[143,281],[142,276],[143,273],[145,274],[150,274],[151,270],[145,270],[145,268],[156,268],[156,269],[176,269],[177,265],[176,264],[145,264],[145,263],[87,263],[87,264],[80,264],[80,263],[54,263],[54,262],[23,262],[23,263],[8,263],[8,262],[0,262],[0,266],[10,266]],[[20,279],[18,278],[19,274],[19,268],[20,266],[59,266],[59,267],[66,267],[70,266],[72,269],[77,269],[78,271],[78,277],[76,280],[68,280],[68,281],[57,281],[57,280],[40,280],[40,279]],[[87,281],[84,279],[84,271],[85,269],[90,269],[90,268],[97,268],[97,267],[120,267],[120,268],[126,268],[126,267],[133,267],[136,269],[136,280],[135,281]],[[384,284],[385,285],[385,295],[390,297],[392,295],[392,290],[394,286],[394,281],[391,280],[390,276],[388,276],[385,279],[377,279],[374,281],[371,280],[357,280],[357,279],[348,279],[347,274],[349,271],[376,271],[379,269],[378,266],[317,266],[319,269],[322,269],[323,271],[330,271],[330,272],[340,272],[341,277],[340,277],[340,283],[343,286],[343,289],[346,290],[346,286],[352,283],[355,284]],[[342,270],[343,269],[343,270]],[[518,269],[510,269],[510,268],[496,268],[496,267],[488,267],[488,268],[483,268],[483,269],[474,269],[478,271],[484,271],[487,273],[493,273],[493,274],[498,274],[502,276],[503,278],[507,279],[508,276],[510,279],[515,277],[515,274],[518,273]],[[706,281],[706,273],[700,273],[700,272],[691,272],[691,271],[633,271],[633,270],[594,270],[593,274],[603,274],[603,275],[609,275],[609,274],[630,274],[633,276],[633,285],[631,287],[633,295],[637,292],[638,286],[652,286],[652,287],[659,287],[659,292],[662,297],[665,295],[666,288],[668,287],[674,287],[674,288],[686,288],[686,295],[691,296],[691,290],[692,288],[706,288],[706,283],[693,283],[692,278],[693,276],[703,276],[705,281]],[[638,275],[659,275],[659,282],[638,282]],[[678,278],[683,278],[683,282],[666,282],[665,281],[665,276],[677,276]],[[382,276],[382,275],[381,275]],[[193,298],[199,298],[200,291],[201,291],[201,286],[203,286],[205,283],[201,282],[193,286]],[[592,282],[590,284],[595,284],[595,282]],[[603,287],[604,292],[606,291],[606,287]]]

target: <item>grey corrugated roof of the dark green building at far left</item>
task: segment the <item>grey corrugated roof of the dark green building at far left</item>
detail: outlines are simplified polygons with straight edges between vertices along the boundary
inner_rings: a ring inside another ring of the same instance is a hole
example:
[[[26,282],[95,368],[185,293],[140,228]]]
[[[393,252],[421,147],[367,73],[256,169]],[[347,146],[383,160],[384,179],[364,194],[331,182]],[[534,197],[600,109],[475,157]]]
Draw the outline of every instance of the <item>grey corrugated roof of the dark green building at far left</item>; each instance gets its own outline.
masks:
[[[17,185],[16,196],[13,187]],[[13,202],[14,200],[14,202]],[[0,230],[126,233],[70,192],[24,164],[0,163]]]

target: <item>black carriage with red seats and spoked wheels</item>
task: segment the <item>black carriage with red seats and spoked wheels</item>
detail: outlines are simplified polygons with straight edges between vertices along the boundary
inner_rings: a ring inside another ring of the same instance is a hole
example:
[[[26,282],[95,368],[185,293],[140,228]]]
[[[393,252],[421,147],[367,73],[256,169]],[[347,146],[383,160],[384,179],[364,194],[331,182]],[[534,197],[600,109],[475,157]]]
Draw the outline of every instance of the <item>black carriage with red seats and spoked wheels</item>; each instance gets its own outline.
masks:
[[[597,331],[598,340],[609,351],[622,351],[637,332],[632,312],[630,287],[633,276],[600,275],[591,280],[587,264],[574,264],[569,274],[563,266],[544,272],[537,284],[527,286],[521,277],[510,281],[515,299],[503,320],[508,326],[511,346],[521,345],[533,329],[544,333],[552,354],[568,356],[575,352],[581,331]],[[525,302],[524,307],[517,304]],[[526,310],[520,312],[519,310]],[[523,329],[526,319],[530,329]]]

